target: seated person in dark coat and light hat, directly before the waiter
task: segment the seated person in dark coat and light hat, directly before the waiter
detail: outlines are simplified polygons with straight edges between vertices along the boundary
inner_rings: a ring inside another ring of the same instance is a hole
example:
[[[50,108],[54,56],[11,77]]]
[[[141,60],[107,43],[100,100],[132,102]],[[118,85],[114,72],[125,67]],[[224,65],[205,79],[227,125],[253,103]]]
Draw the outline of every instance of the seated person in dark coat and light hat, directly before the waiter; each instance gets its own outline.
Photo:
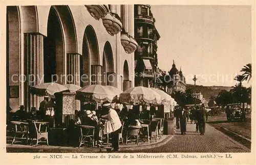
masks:
[[[81,124],[82,125],[89,125],[93,126],[94,128],[94,140],[95,140],[95,145],[100,146],[99,142],[99,125],[98,122],[93,120],[93,113],[90,110],[87,110],[85,112],[85,117],[82,119]]]

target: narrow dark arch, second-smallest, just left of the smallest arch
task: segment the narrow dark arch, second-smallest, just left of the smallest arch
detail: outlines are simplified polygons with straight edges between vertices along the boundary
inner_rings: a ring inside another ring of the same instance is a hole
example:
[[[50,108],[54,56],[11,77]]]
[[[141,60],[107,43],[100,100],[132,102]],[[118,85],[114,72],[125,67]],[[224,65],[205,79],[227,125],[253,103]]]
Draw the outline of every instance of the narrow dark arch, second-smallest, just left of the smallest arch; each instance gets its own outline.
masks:
[[[113,51],[109,41],[106,41],[104,44],[103,54],[104,54],[103,56],[105,56],[105,61],[106,61],[106,72],[114,73],[115,65],[114,65]]]

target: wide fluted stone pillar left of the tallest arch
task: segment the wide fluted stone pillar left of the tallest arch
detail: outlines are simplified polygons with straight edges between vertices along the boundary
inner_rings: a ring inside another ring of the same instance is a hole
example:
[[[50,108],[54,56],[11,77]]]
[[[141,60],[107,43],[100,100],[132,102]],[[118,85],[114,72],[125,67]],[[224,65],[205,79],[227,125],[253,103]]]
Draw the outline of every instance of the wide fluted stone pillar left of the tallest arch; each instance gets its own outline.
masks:
[[[44,83],[44,36],[39,33],[24,34],[24,84],[25,109],[30,111],[31,107],[39,108],[42,97],[32,96],[30,87]],[[30,77],[30,79],[29,79]]]

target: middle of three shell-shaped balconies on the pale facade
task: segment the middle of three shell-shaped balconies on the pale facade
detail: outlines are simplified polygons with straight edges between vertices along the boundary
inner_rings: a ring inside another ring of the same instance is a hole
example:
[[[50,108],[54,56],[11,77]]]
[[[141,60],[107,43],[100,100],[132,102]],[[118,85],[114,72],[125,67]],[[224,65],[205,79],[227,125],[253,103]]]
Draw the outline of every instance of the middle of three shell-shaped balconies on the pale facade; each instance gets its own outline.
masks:
[[[118,34],[122,29],[122,23],[120,17],[116,13],[108,12],[105,17],[102,18],[103,25],[106,31],[114,36]]]

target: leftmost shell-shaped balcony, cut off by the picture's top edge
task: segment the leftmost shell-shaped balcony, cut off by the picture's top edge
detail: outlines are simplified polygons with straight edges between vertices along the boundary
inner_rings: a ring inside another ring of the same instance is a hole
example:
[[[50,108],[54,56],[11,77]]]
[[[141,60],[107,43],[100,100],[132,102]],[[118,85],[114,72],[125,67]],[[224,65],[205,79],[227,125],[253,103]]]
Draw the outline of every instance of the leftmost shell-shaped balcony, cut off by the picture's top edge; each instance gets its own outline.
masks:
[[[96,20],[103,18],[109,12],[108,5],[85,5],[88,12],[94,17]]]

